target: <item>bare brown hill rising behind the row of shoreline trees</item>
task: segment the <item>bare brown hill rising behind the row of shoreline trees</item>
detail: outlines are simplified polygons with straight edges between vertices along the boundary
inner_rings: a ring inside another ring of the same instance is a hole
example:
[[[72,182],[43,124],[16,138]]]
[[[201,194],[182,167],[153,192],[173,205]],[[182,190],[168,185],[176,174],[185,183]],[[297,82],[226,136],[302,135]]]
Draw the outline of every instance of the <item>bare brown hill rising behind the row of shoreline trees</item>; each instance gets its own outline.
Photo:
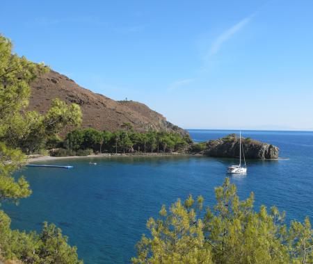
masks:
[[[39,76],[31,83],[29,110],[46,113],[54,98],[68,104],[79,104],[83,112],[84,128],[116,131],[121,129],[121,124],[129,122],[136,131],[155,129],[186,133],[145,104],[136,101],[114,101],[102,94],[81,88],[67,76],[54,71]]]

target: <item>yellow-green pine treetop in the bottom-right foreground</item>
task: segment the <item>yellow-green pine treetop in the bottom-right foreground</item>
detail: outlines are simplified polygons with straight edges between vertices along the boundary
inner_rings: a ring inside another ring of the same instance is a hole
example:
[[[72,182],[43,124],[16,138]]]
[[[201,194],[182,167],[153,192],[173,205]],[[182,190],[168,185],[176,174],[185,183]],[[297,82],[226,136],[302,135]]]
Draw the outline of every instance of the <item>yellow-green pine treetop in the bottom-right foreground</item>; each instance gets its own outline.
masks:
[[[308,218],[293,221],[272,207],[253,210],[254,195],[240,201],[236,186],[225,179],[216,188],[216,206],[202,212],[203,197],[162,206],[158,220],[150,218],[137,245],[133,263],[312,263],[313,231]]]

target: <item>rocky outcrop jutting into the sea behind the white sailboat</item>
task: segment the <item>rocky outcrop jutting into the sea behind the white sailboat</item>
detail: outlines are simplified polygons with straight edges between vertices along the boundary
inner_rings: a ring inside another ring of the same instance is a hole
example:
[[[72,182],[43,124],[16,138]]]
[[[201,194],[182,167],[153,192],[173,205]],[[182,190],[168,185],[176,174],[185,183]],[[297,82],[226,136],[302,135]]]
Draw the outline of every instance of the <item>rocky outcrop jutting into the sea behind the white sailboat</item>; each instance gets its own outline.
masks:
[[[246,159],[277,159],[279,154],[278,147],[252,140],[251,138],[241,138],[243,154]],[[235,134],[227,135],[218,140],[209,140],[202,153],[206,156],[220,158],[239,157],[239,137]]]

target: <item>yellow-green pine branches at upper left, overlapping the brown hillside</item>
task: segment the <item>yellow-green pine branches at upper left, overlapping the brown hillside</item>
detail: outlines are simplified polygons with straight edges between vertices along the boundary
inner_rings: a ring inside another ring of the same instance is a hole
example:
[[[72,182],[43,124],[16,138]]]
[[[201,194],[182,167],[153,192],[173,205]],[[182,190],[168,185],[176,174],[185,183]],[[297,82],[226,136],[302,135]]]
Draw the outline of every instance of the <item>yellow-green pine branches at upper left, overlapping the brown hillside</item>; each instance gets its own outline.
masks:
[[[0,35],[0,141],[31,154],[45,147],[50,136],[79,126],[81,110],[76,104],[67,106],[55,99],[45,116],[27,112],[29,83],[49,68],[11,51],[10,40]]]

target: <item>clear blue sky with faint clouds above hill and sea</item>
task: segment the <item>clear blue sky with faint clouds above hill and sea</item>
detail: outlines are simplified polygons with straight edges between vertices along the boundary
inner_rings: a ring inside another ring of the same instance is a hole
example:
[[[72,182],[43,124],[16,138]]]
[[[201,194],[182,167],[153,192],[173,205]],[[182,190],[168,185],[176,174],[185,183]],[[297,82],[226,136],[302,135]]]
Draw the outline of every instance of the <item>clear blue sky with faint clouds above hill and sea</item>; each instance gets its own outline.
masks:
[[[184,129],[313,130],[313,1],[1,0],[14,51]]]

